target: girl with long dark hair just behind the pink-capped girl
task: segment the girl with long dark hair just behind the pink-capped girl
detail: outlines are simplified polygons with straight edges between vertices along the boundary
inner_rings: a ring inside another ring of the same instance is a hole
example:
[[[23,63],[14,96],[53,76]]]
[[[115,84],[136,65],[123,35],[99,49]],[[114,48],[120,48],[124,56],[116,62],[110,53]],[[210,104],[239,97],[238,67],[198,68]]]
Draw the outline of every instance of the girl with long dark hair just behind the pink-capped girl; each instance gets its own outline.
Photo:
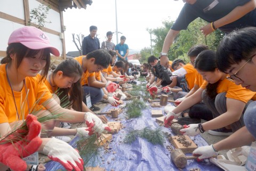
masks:
[[[82,67],[78,61],[67,59],[58,64],[51,74],[47,75],[44,83],[52,94],[55,93],[57,95],[54,99],[62,107],[72,107],[76,111],[93,113],[82,101],[82,74]],[[68,105],[66,100],[60,100],[65,97],[68,97]],[[106,124],[108,122],[105,116],[98,117],[103,123]]]

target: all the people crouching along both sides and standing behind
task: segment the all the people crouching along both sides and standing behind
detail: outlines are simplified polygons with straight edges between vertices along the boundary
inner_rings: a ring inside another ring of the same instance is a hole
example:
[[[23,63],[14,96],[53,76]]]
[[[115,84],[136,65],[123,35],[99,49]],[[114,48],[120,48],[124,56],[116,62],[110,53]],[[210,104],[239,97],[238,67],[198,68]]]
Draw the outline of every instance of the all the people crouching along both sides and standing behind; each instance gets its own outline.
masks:
[[[163,78],[156,78],[157,74],[146,86],[151,94],[158,91],[174,94],[178,106],[167,113],[166,127],[181,113],[180,123],[191,123],[181,129],[184,135],[195,136],[205,131],[215,135],[231,134],[225,140],[193,152],[203,159],[219,150],[255,141],[256,2],[183,2],[177,21],[166,35],[160,60],[155,56],[148,59],[153,73],[159,64],[170,67],[172,83],[159,89]],[[217,52],[205,45],[195,45],[187,53],[189,63],[180,59],[169,61],[167,52],[175,36],[197,17],[209,22],[201,28],[205,36],[216,29],[227,32]],[[79,153],[54,136],[90,136],[110,131],[107,118],[93,113],[93,104],[105,99],[117,105],[118,99],[108,94],[114,93],[118,84],[125,83],[125,78],[133,79],[125,74],[132,68],[125,62],[129,54],[124,44],[126,38],[122,36],[115,46],[111,43],[112,33],[108,32],[108,40],[102,42],[100,48],[96,34],[97,27],[91,26],[90,35],[83,40],[83,55],[63,61],[49,74],[50,53],[55,56],[60,53],[50,45],[44,32],[30,26],[12,32],[6,57],[0,65],[1,171],[8,168],[45,170],[43,165],[27,166],[22,160],[36,151],[60,162],[67,170],[83,170]],[[147,68],[147,65],[145,70],[143,67],[145,75],[149,74]],[[206,122],[201,123],[201,119]],[[59,121],[84,122],[86,127],[60,128]]]

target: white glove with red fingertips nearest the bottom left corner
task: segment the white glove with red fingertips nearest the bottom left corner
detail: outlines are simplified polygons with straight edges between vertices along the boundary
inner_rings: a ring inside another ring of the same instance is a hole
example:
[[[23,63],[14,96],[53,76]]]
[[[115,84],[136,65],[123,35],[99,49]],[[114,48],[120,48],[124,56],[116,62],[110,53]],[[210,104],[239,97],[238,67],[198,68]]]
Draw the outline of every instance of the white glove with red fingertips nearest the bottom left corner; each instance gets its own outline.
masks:
[[[84,170],[84,161],[79,153],[64,141],[52,137],[51,140],[45,144],[43,153],[51,160],[59,162],[68,171],[73,169],[76,171]]]

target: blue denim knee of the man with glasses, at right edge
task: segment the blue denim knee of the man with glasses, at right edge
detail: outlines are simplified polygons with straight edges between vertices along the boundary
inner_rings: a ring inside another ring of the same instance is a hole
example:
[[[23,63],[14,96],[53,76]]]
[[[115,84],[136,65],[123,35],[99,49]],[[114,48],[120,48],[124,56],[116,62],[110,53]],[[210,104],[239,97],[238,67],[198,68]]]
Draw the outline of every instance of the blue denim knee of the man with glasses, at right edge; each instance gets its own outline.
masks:
[[[251,102],[244,112],[244,125],[248,131],[256,138],[256,101]]]

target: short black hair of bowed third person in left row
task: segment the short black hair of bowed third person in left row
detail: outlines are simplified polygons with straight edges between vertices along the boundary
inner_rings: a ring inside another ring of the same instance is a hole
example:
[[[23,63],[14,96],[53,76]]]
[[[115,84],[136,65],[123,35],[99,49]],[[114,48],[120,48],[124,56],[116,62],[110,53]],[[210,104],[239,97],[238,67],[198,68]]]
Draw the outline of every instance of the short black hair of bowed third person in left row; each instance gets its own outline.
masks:
[[[94,64],[99,64],[103,68],[108,68],[110,61],[112,60],[112,56],[108,53],[107,50],[99,49],[92,51],[86,55],[86,59],[94,58]]]

